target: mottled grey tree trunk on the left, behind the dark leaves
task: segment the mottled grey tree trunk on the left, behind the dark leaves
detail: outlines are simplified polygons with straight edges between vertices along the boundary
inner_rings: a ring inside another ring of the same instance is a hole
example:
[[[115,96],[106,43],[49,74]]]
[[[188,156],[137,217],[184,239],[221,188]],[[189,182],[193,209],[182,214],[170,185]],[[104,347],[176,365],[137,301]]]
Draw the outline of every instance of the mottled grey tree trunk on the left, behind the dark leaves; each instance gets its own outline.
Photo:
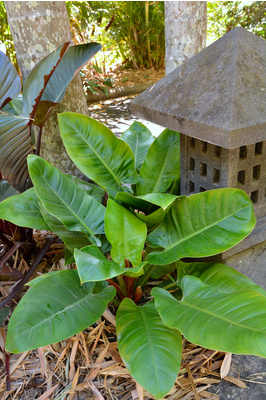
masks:
[[[64,1],[6,1],[5,7],[22,79],[25,81],[34,65],[62,43],[72,41],[66,4]],[[45,124],[41,156],[61,171],[82,177],[69,159],[60,137],[57,113],[63,111],[88,112],[79,75],[69,85],[64,100],[51,112]]]

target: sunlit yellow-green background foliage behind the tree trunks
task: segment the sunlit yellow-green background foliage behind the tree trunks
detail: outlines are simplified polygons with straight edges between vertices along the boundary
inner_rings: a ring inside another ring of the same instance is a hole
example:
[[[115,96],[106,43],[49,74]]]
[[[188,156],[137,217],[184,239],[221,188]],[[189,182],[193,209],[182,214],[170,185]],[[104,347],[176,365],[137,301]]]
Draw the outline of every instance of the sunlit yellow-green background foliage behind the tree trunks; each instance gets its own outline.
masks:
[[[97,41],[103,45],[96,57],[98,73],[121,64],[133,68],[164,67],[163,1],[67,1],[66,4],[75,43]],[[264,1],[208,2],[207,11],[208,44],[239,25],[266,38]],[[1,44],[18,68],[3,1],[0,2]],[[91,74],[95,75],[95,70]]]

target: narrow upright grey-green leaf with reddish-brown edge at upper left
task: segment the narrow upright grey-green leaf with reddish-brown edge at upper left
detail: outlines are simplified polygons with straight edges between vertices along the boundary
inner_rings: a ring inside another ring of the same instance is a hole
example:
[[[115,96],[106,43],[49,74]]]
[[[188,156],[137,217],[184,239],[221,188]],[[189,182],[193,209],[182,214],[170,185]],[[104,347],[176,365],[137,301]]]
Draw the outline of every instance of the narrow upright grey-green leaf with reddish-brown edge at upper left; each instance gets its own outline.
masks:
[[[23,86],[22,117],[34,118],[44,89],[69,45],[70,42],[62,44],[30,71]]]

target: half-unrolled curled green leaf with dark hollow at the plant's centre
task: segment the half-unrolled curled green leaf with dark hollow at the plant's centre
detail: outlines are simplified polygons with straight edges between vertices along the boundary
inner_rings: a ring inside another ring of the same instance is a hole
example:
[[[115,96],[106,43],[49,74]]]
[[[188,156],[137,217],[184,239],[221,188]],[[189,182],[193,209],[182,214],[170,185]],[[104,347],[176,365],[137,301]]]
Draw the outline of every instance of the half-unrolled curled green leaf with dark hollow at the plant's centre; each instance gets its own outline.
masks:
[[[153,205],[166,210],[177,196],[170,193],[150,193],[144,196],[132,196],[130,193],[117,193],[115,200],[143,212],[148,212]]]

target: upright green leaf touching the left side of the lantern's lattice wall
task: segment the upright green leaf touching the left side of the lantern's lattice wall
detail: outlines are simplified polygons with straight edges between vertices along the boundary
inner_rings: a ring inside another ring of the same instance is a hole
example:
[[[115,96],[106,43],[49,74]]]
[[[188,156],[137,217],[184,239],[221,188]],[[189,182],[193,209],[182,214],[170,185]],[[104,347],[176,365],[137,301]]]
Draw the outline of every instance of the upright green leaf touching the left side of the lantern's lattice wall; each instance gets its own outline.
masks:
[[[152,143],[142,164],[137,194],[165,192],[180,174],[179,134],[165,129]]]

